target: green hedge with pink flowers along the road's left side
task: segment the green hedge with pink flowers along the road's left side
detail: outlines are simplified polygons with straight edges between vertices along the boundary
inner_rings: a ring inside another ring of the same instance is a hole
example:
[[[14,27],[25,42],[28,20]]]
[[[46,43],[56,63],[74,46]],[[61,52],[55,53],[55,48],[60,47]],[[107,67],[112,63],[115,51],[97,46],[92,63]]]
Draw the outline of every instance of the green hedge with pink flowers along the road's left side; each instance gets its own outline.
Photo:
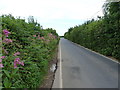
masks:
[[[58,44],[53,29],[41,29],[11,15],[2,16],[2,82],[4,88],[37,88],[43,82]]]

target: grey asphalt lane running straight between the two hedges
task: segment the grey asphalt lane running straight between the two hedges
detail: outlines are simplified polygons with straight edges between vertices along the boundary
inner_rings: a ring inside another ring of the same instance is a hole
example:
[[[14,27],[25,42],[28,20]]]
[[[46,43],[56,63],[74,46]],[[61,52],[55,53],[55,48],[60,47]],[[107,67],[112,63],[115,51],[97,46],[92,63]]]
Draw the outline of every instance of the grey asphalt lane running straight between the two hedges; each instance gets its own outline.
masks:
[[[62,38],[62,88],[118,88],[118,63]]]

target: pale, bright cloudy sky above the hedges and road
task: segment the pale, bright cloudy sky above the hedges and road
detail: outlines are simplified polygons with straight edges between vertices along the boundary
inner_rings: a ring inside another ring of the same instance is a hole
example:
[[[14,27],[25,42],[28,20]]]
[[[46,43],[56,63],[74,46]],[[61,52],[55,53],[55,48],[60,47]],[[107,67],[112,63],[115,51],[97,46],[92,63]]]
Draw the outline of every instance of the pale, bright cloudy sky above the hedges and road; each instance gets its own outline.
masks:
[[[0,15],[33,16],[44,29],[53,28],[62,36],[70,27],[103,16],[105,0],[0,0]]]

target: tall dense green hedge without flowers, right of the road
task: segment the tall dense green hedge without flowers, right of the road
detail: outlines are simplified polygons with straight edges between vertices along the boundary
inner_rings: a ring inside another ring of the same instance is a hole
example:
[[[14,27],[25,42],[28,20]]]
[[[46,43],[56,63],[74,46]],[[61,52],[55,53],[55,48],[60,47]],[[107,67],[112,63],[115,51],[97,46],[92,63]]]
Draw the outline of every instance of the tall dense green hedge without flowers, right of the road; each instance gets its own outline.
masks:
[[[105,3],[104,16],[71,27],[64,37],[120,60],[120,2]]]

